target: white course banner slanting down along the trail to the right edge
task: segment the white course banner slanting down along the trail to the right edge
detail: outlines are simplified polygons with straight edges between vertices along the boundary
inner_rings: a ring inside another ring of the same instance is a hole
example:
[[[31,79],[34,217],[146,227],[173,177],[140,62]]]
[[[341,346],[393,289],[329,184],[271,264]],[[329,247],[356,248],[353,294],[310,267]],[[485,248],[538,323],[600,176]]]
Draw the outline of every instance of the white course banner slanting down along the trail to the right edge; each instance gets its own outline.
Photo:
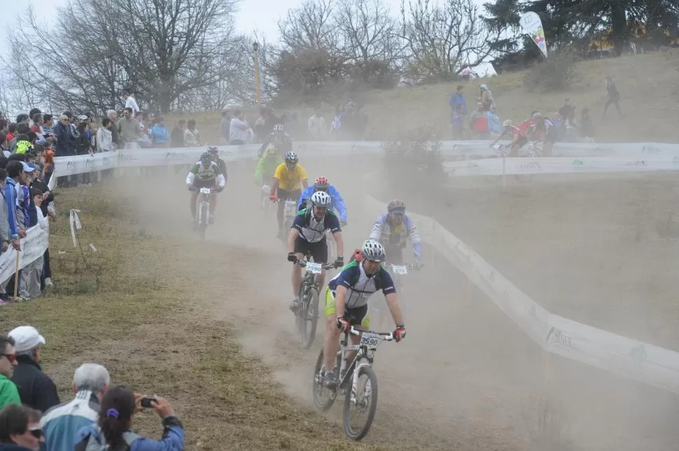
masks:
[[[376,215],[386,209],[372,196],[364,199]],[[436,220],[407,214],[423,241],[467,275],[540,348],[679,394],[679,352],[549,313]]]

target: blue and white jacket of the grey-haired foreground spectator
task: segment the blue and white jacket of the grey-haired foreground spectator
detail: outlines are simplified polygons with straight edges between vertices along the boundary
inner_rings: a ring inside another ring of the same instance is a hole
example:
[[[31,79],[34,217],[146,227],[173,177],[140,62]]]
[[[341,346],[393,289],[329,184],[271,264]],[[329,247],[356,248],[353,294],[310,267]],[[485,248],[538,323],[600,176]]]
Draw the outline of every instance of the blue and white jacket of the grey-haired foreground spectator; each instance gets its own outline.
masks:
[[[80,390],[73,401],[50,408],[40,420],[45,435],[41,451],[73,450],[78,431],[97,422],[97,415],[99,400],[90,390]]]

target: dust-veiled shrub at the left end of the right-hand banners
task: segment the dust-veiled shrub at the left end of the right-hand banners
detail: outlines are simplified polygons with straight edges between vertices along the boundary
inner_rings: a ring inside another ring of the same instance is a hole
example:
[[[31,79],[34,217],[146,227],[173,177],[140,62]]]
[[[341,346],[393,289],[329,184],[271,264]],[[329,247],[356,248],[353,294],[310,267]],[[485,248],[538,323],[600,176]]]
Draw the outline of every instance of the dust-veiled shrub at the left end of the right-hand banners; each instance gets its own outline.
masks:
[[[382,143],[382,148],[391,183],[439,185],[446,178],[441,141],[430,127],[402,131],[392,141]]]

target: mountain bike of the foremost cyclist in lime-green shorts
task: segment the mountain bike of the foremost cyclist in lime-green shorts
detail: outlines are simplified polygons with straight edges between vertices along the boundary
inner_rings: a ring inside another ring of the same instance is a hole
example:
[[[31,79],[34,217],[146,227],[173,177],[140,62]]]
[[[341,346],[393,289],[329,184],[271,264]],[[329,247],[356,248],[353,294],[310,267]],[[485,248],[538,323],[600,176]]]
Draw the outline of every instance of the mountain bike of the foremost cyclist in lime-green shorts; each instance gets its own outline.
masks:
[[[349,335],[360,336],[358,345],[349,345]],[[335,361],[335,378],[337,387],[331,388],[323,385],[323,350],[318,355],[316,366],[314,367],[314,404],[316,407],[325,411],[332,407],[337,399],[337,394],[344,395],[344,434],[352,440],[360,440],[372,426],[375,411],[377,410],[377,375],[372,369],[374,362],[374,352],[383,341],[392,341],[391,332],[375,332],[363,329],[358,326],[351,326],[348,332],[339,342],[339,351]],[[349,352],[356,352],[347,364],[346,355]],[[359,384],[359,379],[365,376],[365,383]],[[363,422],[352,424],[352,409],[358,413],[367,413],[367,418]]]

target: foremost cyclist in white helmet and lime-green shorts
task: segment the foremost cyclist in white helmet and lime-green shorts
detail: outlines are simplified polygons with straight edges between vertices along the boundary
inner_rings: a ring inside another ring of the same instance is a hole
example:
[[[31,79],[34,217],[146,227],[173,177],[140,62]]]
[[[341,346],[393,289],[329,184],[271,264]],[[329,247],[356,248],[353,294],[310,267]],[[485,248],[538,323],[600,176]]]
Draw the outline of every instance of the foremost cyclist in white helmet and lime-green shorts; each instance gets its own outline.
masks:
[[[356,325],[370,328],[367,301],[379,290],[384,294],[391,317],[396,324],[393,332],[395,340],[401,341],[405,338],[405,325],[396,299],[396,287],[391,275],[381,266],[385,258],[384,246],[378,241],[367,240],[360,248],[360,261],[352,260],[328,282],[328,287],[325,289],[323,385],[332,387],[337,384],[332,370],[335,368],[339,334]],[[358,336],[351,336],[354,345],[358,344],[359,339]],[[349,356],[349,361],[351,361],[351,356]]]

